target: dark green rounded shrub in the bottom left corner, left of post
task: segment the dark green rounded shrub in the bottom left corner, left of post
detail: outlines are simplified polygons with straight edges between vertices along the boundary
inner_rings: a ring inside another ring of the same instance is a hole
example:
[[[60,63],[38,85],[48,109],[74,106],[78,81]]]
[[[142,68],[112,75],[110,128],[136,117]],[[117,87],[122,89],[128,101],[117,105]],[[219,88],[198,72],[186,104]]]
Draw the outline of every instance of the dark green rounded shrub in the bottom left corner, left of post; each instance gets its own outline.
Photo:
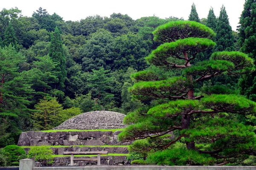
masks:
[[[7,166],[18,166],[20,159],[26,158],[25,150],[15,144],[8,145],[3,148],[5,156],[7,157]]]

